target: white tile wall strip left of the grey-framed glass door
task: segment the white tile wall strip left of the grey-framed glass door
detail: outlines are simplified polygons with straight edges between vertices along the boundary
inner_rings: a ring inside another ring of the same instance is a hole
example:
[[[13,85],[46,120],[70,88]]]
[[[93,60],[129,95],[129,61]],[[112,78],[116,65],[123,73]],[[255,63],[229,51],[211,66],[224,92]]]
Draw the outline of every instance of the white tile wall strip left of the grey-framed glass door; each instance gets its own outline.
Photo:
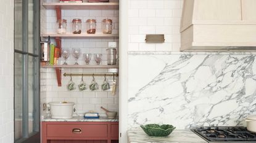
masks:
[[[0,0],[0,143],[14,142],[14,1]]]

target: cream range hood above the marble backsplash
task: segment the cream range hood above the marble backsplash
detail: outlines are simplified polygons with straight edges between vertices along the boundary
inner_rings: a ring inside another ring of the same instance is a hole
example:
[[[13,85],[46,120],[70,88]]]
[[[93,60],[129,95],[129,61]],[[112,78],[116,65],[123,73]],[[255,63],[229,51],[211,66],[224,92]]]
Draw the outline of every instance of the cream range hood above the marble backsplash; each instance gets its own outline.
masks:
[[[256,50],[256,0],[184,0],[181,51]]]

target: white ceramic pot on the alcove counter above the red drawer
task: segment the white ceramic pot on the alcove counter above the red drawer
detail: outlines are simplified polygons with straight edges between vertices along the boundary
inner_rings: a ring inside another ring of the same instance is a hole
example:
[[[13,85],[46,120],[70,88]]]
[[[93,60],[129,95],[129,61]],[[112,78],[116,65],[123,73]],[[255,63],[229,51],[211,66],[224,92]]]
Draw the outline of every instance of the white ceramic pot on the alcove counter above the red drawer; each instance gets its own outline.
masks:
[[[72,118],[75,103],[73,102],[50,102],[52,118]]]

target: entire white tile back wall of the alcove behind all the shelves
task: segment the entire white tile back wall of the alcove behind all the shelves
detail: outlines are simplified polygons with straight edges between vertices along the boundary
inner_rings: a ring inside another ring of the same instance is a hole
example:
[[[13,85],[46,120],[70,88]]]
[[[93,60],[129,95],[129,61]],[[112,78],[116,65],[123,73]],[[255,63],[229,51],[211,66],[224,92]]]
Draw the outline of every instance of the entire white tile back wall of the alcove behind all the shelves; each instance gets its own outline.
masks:
[[[47,1],[47,2],[58,2],[58,1]],[[110,0],[110,2],[118,2],[118,0]],[[101,33],[101,21],[105,18],[110,18],[114,22],[114,34],[118,34],[118,13],[119,10],[62,10],[62,18],[67,20],[67,32],[72,32],[72,19],[81,18],[83,21],[82,33],[86,33],[87,19],[93,18],[97,20],[96,23],[96,33]],[[46,18],[47,17],[47,18]],[[41,17],[42,18],[42,17]],[[46,33],[56,32],[56,11],[46,10]],[[45,21],[41,21],[45,22]],[[115,41],[118,43],[118,38],[94,38],[94,39],[62,39],[62,48],[81,48],[81,53],[91,53],[92,58],[90,61],[91,65],[96,65],[94,61],[94,53],[102,53],[101,65],[107,65],[107,52],[108,42]],[[54,43],[54,39],[52,39]],[[60,58],[59,64],[63,64],[64,59]],[[68,64],[74,64],[75,58],[72,55],[68,58]],[[85,64],[83,60],[83,55],[80,56],[78,60],[79,64]],[[107,69],[62,69],[62,74],[67,73],[107,73]],[[114,110],[118,112],[118,86],[115,95],[111,95],[111,91],[102,91],[101,85],[104,82],[104,77],[95,77],[96,82],[99,84],[99,89],[96,91],[91,91],[88,85],[91,84],[93,77],[83,77],[87,85],[85,91],[79,91],[78,84],[81,82],[81,77],[72,77],[73,82],[75,82],[76,89],[73,91],[68,91],[67,85],[70,82],[70,77],[64,77],[62,75],[62,87],[57,86],[57,77],[55,69],[41,68],[41,106],[43,103],[49,102],[75,102],[75,113],[83,114],[91,110],[99,112],[99,115],[105,117],[105,112],[100,107],[104,106],[109,110]],[[118,77],[115,77],[118,79]],[[113,77],[107,77],[107,81],[112,87]],[[49,111],[41,110],[42,115],[46,115]]]

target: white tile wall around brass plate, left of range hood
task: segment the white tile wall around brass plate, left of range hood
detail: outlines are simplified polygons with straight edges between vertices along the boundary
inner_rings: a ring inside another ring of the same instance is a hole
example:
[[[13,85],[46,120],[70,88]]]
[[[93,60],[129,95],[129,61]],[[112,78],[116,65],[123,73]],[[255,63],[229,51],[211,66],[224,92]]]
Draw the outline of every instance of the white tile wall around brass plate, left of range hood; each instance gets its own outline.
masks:
[[[129,0],[129,51],[180,51],[182,0]],[[146,34],[165,34],[165,43],[146,44]]]

